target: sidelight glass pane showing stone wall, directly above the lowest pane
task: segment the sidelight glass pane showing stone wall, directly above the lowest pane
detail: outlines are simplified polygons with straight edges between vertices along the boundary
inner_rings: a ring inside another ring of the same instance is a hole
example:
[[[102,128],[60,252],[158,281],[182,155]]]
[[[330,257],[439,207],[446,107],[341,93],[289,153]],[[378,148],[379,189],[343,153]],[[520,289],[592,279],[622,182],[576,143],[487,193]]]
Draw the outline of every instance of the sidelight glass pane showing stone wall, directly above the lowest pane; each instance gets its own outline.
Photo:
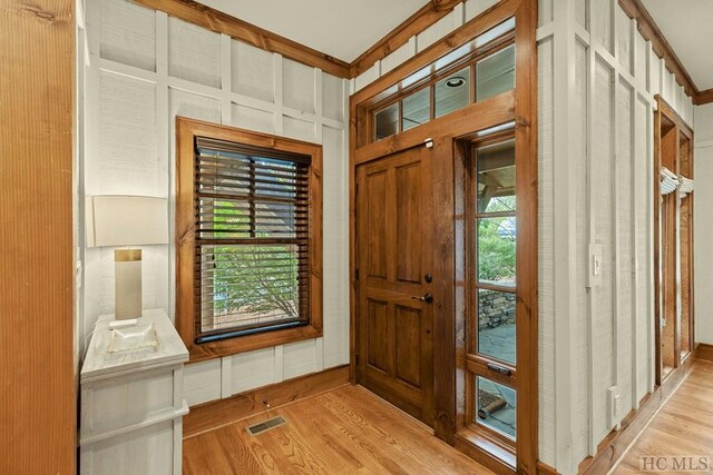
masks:
[[[478,289],[478,353],[515,365],[515,294]]]

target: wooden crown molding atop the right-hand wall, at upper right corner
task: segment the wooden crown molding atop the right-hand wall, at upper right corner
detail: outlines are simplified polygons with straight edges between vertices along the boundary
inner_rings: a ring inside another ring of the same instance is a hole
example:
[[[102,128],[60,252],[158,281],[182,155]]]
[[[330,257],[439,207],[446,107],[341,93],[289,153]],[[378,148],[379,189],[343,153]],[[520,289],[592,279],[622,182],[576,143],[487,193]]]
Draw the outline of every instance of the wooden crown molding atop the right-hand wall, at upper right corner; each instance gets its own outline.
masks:
[[[629,18],[636,20],[638,32],[651,41],[654,52],[665,61],[666,69],[675,75],[678,85],[695,102],[699,89],[642,0],[619,0],[619,6]]]

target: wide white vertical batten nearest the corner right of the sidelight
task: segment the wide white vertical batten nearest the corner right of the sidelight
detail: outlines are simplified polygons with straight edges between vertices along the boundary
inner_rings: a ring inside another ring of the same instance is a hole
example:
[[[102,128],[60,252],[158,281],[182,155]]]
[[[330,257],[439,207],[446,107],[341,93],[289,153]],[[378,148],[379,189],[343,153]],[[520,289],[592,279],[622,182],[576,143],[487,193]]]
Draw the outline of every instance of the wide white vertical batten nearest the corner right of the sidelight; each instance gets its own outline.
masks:
[[[572,382],[575,367],[572,365],[574,348],[572,345],[573,296],[576,295],[574,280],[576,264],[576,216],[575,181],[573,167],[567,159],[573,146],[569,133],[573,116],[574,93],[574,46],[575,13],[569,0],[555,1],[554,34],[554,283],[555,283],[555,425],[556,466],[566,472],[576,467],[572,452],[574,409],[572,405]],[[560,240],[561,239],[561,240]],[[563,256],[564,254],[564,256]]]

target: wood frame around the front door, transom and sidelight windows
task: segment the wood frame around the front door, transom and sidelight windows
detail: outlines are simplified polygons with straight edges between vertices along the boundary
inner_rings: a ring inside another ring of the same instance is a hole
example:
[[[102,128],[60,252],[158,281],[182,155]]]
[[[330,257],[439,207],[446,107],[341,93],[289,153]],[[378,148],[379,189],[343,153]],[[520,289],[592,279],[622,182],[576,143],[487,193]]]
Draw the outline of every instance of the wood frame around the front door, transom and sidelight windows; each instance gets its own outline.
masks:
[[[460,44],[475,39],[480,33],[499,24],[505,19],[516,18],[516,87],[482,102],[476,102],[449,116],[433,119],[395,136],[370,142],[368,119],[360,105],[401,79],[433,62]],[[537,473],[538,463],[538,257],[537,257],[537,2],[535,0],[502,0],[480,16],[468,21],[455,32],[432,44],[388,75],[355,92],[350,98],[350,164],[349,164],[349,211],[350,211],[350,379],[355,383],[356,367],[356,313],[358,313],[358,249],[356,249],[356,166],[411,147],[422,146],[431,139],[434,147],[436,166],[433,179],[438,184],[433,196],[439,207],[436,211],[436,273],[443,276],[436,283],[433,297],[434,321],[434,433],[438,437],[471,455],[491,455],[473,444],[472,441],[457,436],[462,426],[462,407],[458,402],[458,379],[462,372],[458,369],[456,324],[458,301],[455,293],[460,275],[456,263],[459,249],[457,237],[462,232],[456,226],[455,217],[459,212],[458,195],[462,184],[457,176],[457,159],[460,157],[456,140],[478,130],[515,122],[517,190],[518,196],[527,197],[522,205],[518,202],[518,234],[522,232],[528,243],[519,246],[518,258],[518,410],[517,410],[517,457],[515,463],[498,462],[495,457],[489,464],[499,473]],[[496,109],[498,111],[494,111]],[[504,112],[502,112],[504,111]],[[521,219],[521,221],[520,221]],[[462,227],[462,226],[461,226]],[[460,372],[460,373],[458,373]],[[535,422],[535,424],[531,424]],[[497,455],[496,455],[497,456]]]

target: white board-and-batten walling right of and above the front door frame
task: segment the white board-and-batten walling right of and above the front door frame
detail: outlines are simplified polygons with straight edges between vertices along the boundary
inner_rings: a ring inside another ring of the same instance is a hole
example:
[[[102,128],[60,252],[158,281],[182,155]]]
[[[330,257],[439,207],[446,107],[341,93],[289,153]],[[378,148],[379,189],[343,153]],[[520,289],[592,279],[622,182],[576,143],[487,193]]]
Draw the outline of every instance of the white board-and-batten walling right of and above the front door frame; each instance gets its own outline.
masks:
[[[495,3],[459,4],[352,92]],[[539,456],[570,474],[653,388],[654,96],[690,125],[693,103],[617,0],[538,8]],[[590,289],[589,244],[603,258]]]

